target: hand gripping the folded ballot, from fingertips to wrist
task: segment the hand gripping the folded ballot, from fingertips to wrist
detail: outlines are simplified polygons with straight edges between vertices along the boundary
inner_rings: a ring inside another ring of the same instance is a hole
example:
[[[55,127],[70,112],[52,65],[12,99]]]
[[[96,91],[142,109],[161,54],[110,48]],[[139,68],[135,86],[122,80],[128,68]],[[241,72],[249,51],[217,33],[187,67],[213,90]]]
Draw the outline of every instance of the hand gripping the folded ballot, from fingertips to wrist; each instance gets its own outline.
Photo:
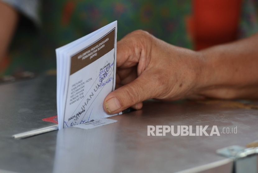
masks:
[[[134,31],[117,42],[116,90],[105,98],[104,110],[115,114],[130,106],[141,109],[142,101],[151,98],[194,95],[202,62],[198,52]]]

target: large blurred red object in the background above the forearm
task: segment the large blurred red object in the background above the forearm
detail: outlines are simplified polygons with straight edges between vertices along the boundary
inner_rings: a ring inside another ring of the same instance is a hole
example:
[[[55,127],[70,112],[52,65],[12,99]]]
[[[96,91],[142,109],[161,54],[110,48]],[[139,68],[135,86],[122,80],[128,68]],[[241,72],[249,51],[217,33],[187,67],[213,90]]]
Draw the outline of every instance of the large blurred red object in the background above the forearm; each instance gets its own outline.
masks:
[[[193,0],[187,21],[195,50],[237,39],[242,0]]]

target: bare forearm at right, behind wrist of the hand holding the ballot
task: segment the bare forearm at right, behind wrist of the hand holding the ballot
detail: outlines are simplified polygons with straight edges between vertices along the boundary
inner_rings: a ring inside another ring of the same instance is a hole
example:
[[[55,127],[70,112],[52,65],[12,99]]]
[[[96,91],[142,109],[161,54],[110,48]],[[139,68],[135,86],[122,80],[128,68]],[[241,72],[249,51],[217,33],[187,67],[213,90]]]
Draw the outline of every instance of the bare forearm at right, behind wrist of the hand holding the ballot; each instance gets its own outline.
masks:
[[[258,98],[258,34],[198,52],[202,72],[196,92],[216,98]]]

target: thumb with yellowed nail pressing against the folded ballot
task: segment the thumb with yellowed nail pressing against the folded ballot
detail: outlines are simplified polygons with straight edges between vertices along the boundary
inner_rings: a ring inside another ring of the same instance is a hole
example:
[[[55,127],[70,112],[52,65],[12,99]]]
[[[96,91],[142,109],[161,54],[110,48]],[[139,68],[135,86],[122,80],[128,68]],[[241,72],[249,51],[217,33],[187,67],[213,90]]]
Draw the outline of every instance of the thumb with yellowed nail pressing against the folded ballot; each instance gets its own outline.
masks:
[[[109,93],[104,100],[104,110],[108,114],[116,114],[132,105],[153,98],[155,86],[150,83],[150,76],[147,72],[142,73],[134,81]]]

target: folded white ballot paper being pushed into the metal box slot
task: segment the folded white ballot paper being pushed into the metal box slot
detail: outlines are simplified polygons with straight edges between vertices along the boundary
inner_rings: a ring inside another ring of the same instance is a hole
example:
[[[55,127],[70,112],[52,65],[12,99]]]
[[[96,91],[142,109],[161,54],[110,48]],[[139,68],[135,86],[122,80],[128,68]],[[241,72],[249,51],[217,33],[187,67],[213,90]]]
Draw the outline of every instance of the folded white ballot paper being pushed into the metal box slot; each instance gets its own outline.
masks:
[[[59,129],[113,116],[103,102],[115,89],[116,48],[114,21],[56,49]]]

